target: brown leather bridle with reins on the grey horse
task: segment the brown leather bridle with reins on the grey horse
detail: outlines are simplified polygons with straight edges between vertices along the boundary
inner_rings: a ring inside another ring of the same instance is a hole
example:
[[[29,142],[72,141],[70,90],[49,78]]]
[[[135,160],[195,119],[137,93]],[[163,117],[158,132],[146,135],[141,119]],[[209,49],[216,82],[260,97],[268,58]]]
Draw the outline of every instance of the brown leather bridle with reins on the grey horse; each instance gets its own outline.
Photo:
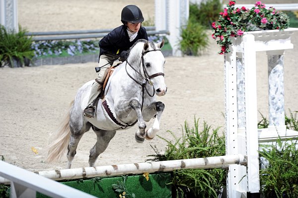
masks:
[[[155,52],[155,51],[160,51],[159,49],[154,49],[154,50],[149,50],[149,51],[146,51],[146,52],[142,52],[142,56],[141,56],[141,63],[142,63],[142,66],[143,66],[143,71],[144,71],[144,75],[145,75],[145,77],[137,70],[137,69],[135,69],[131,64],[129,64],[128,63],[128,60],[126,60],[126,64],[125,64],[125,70],[126,70],[126,73],[127,73],[127,75],[131,78],[131,79],[133,79],[136,83],[138,83],[139,85],[141,85],[142,86],[142,106],[141,106],[141,111],[143,110],[143,104],[144,104],[144,90],[146,90],[146,92],[148,93],[148,95],[150,96],[150,97],[153,97],[154,96],[154,94],[155,94],[155,88],[154,88],[154,85],[153,85],[153,83],[151,82],[151,79],[152,78],[154,78],[154,77],[156,77],[156,76],[159,76],[159,75],[162,75],[162,76],[164,76],[164,73],[162,73],[162,72],[158,72],[158,73],[154,73],[154,74],[152,74],[152,75],[149,75],[148,74],[148,71],[146,70],[146,66],[145,66],[145,62],[144,62],[144,55],[146,55],[147,53],[149,53],[149,52]],[[141,63],[140,63],[140,67],[141,67]],[[139,82],[137,79],[135,79],[128,71],[127,71],[127,65],[129,65],[132,69],[134,69],[143,79],[145,79],[146,80],[146,82],[145,83],[141,83],[141,82]],[[149,93],[149,91],[148,91],[148,89],[147,89],[147,87],[146,87],[146,85],[147,84],[150,84],[152,87],[153,87],[153,93],[152,94],[150,94]]]

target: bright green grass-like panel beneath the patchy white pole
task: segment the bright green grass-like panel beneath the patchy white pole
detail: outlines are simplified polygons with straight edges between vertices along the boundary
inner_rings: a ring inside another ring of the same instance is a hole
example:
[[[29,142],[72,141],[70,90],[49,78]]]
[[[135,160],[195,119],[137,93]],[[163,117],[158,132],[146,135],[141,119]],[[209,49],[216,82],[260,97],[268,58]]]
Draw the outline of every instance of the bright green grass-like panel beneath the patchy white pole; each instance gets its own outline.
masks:
[[[115,192],[112,185],[118,184],[121,181],[123,182],[123,177],[120,176],[61,183],[98,198],[119,198],[122,192]],[[149,181],[143,175],[133,175],[127,177],[125,185],[127,193],[135,194],[136,198],[171,198],[171,185],[167,185],[170,181],[170,173],[150,174]],[[36,193],[36,198],[49,197],[41,193]]]

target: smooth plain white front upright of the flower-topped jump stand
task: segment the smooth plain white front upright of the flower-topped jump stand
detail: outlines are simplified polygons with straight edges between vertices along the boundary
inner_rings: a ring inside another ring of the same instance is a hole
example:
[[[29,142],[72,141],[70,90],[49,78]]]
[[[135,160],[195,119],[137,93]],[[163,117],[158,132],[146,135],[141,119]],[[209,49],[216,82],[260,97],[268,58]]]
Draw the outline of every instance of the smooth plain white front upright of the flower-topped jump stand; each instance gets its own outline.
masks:
[[[254,35],[243,36],[243,65],[245,84],[245,119],[247,147],[248,192],[259,193],[259,154],[257,122],[257,78]]]

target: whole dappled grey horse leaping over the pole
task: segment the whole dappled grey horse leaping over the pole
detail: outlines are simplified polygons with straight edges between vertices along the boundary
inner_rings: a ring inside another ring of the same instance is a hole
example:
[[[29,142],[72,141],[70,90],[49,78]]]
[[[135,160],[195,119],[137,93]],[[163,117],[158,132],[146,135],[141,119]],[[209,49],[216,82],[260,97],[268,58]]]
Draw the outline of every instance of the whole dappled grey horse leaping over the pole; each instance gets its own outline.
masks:
[[[127,61],[117,66],[105,88],[105,98],[99,100],[94,118],[83,116],[91,85],[86,82],[78,91],[70,112],[48,145],[47,162],[59,161],[68,148],[68,168],[71,168],[78,142],[92,127],[97,141],[90,149],[89,166],[94,166],[99,154],[108,146],[116,131],[126,130],[138,123],[135,134],[137,142],[151,140],[159,131],[164,104],[156,101],[165,95],[164,57],[160,51],[164,41],[152,43],[139,40],[130,49]],[[95,82],[96,83],[96,82]],[[146,130],[145,122],[155,118],[152,127]]]

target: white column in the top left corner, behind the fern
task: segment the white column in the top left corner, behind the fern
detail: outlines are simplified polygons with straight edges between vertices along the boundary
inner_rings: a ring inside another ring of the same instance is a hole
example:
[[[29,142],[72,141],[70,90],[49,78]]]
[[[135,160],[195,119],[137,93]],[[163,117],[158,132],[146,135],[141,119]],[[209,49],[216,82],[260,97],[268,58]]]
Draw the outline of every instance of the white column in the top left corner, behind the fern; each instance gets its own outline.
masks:
[[[7,30],[18,31],[17,0],[0,0],[0,24]]]

